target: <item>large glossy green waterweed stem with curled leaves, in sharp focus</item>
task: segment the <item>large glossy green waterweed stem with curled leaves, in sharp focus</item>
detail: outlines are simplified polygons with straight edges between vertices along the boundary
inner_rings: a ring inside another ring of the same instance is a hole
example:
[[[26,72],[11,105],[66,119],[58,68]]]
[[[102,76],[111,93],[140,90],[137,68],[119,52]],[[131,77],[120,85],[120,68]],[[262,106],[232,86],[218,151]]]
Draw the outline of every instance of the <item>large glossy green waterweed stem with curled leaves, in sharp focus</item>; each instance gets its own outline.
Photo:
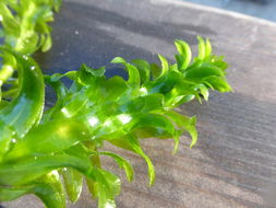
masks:
[[[185,42],[175,44],[173,65],[161,55],[160,66],[115,58],[111,62],[127,70],[128,80],[106,78],[104,67],[85,65],[77,71],[44,76],[27,54],[14,46],[0,48],[19,72],[16,94],[0,103],[0,201],[34,194],[46,207],[62,208],[67,197],[73,203],[79,199],[86,181],[98,207],[116,207],[120,180],[101,166],[100,157],[111,157],[129,181],[133,169],[121,155],[101,151],[105,142],[142,157],[149,185],[154,184],[154,165],[140,139],[173,138],[176,152],[180,136],[188,131],[192,147],[197,139],[196,119],[173,108],[193,99],[207,100],[209,89],[231,90],[225,78],[227,63],[212,54],[208,41],[199,37],[193,61]],[[70,88],[64,77],[72,80]],[[57,94],[56,104],[47,111],[45,84]]]

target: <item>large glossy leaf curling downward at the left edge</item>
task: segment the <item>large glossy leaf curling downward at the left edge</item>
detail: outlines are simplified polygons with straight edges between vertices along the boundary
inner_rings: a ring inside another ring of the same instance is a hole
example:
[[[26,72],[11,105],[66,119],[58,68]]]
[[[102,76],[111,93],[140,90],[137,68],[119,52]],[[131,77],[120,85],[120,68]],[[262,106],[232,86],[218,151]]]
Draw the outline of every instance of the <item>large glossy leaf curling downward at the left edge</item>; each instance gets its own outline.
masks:
[[[10,53],[9,50],[3,50]],[[0,109],[0,161],[11,141],[22,139],[38,124],[44,107],[44,80],[38,66],[31,58],[10,53],[17,60],[19,95]]]

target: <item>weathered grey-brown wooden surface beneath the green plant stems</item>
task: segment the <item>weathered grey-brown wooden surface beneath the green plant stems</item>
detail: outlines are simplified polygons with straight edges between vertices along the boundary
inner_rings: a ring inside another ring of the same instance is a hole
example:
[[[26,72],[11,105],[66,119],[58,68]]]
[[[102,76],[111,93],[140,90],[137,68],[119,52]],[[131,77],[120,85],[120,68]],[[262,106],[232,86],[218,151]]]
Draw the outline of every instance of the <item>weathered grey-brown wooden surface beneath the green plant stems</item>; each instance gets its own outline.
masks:
[[[155,186],[147,187],[142,159],[123,153],[134,164],[132,184],[105,161],[123,178],[118,207],[276,207],[276,24],[169,0],[68,0],[52,35],[51,51],[36,56],[45,69],[98,67],[115,56],[156,61],[156,53],[172,60],[173,39],[196,49],[195,35],[209,37],[230,63],[235,93],[212,93],[208,103],[180,108],[199,118],[193,149],[185,136],[176,155],[172,140],[143,142],[156,166]],[[4,206],[43,207],[29,196]],[[71,207],[96,205],[86,192]]]

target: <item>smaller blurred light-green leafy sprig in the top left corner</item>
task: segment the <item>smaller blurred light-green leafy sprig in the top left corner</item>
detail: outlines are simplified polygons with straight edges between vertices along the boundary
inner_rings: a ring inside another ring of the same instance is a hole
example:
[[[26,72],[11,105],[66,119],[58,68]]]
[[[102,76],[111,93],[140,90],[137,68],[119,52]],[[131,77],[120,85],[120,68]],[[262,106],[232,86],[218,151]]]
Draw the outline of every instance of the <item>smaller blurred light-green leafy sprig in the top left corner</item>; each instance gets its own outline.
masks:
[[[58,11],[61,0],[1,0],[0,1],[0,37],[3,45],[22,55],[32,55],[38,49],[47,51],[51,47],[51,27],[53,10]],[[16,60],[2,53],[3,63],[0,71],[0,86],[13,76]],[[5,92],[14,94],[17,83]],[[1,90],[0,90],[1,100]]]

